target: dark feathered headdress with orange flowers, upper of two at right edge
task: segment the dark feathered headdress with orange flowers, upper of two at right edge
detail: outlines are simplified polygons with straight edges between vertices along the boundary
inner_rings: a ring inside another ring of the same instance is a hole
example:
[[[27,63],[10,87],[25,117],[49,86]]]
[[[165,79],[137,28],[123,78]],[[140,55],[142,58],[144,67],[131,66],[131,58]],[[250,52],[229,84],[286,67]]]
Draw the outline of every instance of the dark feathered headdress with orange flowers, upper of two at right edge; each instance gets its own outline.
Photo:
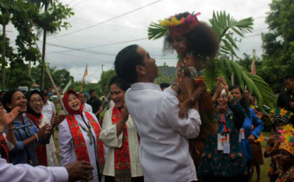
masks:
[[[269,111],[269,115],[272,118],[273,124],[278,122],[289,123],[289,119],[294,115],[292,112],[286,109],[272,109]]]

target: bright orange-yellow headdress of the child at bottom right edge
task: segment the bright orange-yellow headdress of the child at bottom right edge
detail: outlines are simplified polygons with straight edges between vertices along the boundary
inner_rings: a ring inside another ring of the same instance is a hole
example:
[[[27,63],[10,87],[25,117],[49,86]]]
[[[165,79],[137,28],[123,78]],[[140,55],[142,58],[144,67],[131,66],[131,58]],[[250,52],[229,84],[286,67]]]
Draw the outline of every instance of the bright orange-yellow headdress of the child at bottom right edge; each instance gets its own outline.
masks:
[[[291,124],[283,126],[283,130],[279,130],[281,133],[279,143],[279,149],[284,149],[290,152],[294,156],[294,128]]]

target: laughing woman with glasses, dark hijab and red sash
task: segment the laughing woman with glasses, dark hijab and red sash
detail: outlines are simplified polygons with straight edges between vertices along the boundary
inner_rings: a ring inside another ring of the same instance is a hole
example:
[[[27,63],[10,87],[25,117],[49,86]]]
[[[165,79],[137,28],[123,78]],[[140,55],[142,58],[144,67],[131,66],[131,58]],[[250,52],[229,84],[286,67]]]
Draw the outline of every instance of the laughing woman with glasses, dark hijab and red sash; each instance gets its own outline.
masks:
[[[38,90],[29,91],[25,94],[25,96],[29,103],[26,111],[26,116],[29,120],[31,120],[34,123],[34,125],[38,129],[40,129],[42,126],[46,124],[51,123],[52,126],[58,124],[58,121],[51,119],[52,122],[50,122],[48,117],[42,114],[44,98]],[[52,129],[51,132],[53,132]],[[38,164],[42,166],[58,165],[58,161],[55,155],[56,149],[54,146],[54,141],[51,132],[49,134],[49,144],[43,145],[38,142],[35,142],[35,152]]]

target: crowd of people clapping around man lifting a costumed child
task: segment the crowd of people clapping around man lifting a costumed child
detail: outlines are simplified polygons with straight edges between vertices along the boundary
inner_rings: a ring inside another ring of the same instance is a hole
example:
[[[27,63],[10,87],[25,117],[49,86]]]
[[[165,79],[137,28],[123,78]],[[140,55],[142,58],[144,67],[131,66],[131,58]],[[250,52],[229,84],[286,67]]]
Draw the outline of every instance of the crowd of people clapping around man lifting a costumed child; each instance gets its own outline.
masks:
[[[172,83],[154,84],[157,66],[143,47],[119,51],[103,122],[93,89],[87,102],[83,92],[65,92],[65,118],[47,91],[2,91],[0,182],[249,182],[254,167],[259,182],[264,123],[250,90],[218,77],[208,92],[204,69],[219,41],[197,15],[161,21],[164,48],[178,54]],[[273,123],[264,151],[270,182],[294,181],[294,75],[285,86],[278,108],[266,114]]]

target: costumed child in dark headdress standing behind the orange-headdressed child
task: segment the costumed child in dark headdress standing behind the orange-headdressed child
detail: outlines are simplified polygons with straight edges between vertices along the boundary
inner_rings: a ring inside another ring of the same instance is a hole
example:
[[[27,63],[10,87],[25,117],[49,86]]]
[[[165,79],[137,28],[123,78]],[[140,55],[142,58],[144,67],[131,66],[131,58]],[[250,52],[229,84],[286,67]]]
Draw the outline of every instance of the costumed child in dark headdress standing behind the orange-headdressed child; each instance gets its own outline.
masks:
[[[269,116],[271,116],[273,120],[273,129],[272,136],[269,138],[264,151],[264,157],[271,157],[270,166],[267,170],[270,182],[276,182],[280,173],[277,165],[277,152],[280,146],[280,143],[278,141],[281,136],[281,133],[279,131],[283,129],[283,126],[289,124],[289,118],[292,115],[292,112],[284,109],[273,109],[269,112]]]

